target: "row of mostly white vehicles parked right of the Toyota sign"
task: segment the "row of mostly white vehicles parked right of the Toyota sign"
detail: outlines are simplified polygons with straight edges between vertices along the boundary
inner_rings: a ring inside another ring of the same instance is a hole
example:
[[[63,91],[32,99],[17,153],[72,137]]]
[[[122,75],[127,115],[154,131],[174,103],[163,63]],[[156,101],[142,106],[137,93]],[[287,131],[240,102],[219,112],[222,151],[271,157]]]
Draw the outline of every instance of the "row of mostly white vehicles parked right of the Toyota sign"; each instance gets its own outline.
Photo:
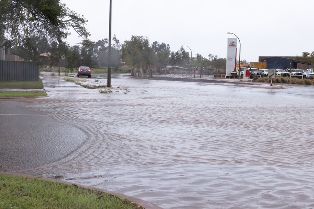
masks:
[[[244,73],[246,70],[250,71],[250,78],[254,76],[267,77],[268,69],[258,69],[258,68],[240,68],[240,78],[244,77]],[[238,71],[231,71],[230,76],[238,77]],[[276,76],[283,77],[297,77],[297,78],[313,78],[314,77],[314,69],[293,69],[287,68],[284,69],[276,69]]]

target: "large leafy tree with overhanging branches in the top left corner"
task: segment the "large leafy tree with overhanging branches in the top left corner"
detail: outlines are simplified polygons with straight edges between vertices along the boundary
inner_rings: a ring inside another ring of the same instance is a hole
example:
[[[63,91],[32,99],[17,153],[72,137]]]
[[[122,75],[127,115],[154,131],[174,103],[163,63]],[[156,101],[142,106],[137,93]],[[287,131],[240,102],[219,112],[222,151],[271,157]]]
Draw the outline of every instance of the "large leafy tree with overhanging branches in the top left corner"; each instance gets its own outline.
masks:
[[[0,60],[4,60],[6,39],[18,45],[34,35],[63,45],[70,28],[86,39],[90,35],[84,27],[86,22],[84,16],[71,11],[60,0],[1,0]]]

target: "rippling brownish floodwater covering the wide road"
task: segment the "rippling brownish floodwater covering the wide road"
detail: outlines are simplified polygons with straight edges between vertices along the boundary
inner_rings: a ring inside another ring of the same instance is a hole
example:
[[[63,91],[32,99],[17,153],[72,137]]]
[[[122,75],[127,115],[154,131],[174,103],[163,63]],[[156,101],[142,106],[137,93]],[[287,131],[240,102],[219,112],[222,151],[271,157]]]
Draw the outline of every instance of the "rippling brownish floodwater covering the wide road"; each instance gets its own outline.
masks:
[[[48,97],[29,107],[76,124],[87,140],[61,160],[21,172],[165,209],[314,208],[313,86],[113,77],[106,94],[42,76]],[[86,80],[106,84],[101,78]]]

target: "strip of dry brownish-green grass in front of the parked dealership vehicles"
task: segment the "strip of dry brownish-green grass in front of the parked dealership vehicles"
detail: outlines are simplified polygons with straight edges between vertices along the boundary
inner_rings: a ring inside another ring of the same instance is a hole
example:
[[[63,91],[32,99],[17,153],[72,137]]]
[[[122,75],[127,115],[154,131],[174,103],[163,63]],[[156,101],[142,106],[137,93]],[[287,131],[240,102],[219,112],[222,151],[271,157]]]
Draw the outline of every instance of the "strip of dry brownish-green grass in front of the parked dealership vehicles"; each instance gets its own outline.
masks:
[[[253,82],[270,83],[270,78],[253,78]],[[290,78],[290,77],[276,77],[273,78],[273,83],[283,83],[283,84],[299,84],[299,85],[314,85],[314,79],[300,79],[300,78]]]

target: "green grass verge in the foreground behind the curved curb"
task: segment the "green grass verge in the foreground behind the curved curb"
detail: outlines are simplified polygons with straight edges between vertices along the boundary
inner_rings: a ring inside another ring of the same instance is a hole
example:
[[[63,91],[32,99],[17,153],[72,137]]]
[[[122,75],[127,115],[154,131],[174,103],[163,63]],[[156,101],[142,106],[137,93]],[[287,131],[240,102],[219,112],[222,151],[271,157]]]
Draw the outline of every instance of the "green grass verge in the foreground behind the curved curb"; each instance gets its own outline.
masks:
[[[0,209],[143,209],[121,197],[53,181],[0,174]]]

